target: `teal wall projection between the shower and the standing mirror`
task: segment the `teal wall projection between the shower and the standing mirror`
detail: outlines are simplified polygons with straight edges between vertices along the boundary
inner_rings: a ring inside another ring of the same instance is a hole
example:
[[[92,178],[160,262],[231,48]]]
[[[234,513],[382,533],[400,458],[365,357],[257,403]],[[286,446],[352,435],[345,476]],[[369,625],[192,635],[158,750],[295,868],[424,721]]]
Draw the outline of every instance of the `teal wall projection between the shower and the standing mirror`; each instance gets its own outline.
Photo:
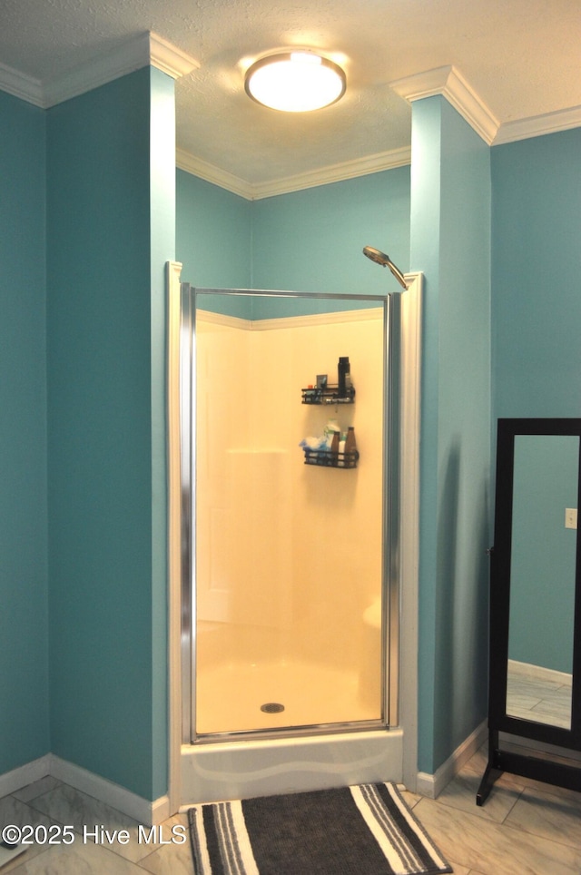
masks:
[[[441,97],[412,106],[411,258],[425,275],[419,771],[487,712],[490,156]]]

